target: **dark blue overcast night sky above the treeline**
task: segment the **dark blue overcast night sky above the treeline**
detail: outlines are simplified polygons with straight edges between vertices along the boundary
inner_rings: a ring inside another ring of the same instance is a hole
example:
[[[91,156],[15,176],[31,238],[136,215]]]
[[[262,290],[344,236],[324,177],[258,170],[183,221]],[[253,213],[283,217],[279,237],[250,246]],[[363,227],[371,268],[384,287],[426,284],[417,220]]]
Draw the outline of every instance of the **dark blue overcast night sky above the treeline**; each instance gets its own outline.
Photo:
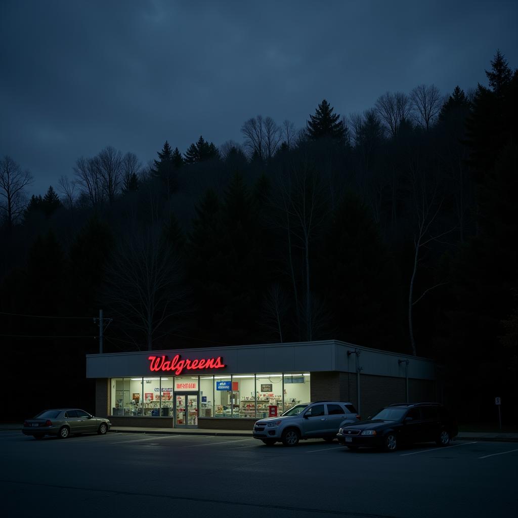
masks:
[[[44,194],[111,145],[146,164],[167,139],[242,142],[262,114],[303,127],[327,98],[486,83],[518,66],[516,2],[0,2],[0,155]]]

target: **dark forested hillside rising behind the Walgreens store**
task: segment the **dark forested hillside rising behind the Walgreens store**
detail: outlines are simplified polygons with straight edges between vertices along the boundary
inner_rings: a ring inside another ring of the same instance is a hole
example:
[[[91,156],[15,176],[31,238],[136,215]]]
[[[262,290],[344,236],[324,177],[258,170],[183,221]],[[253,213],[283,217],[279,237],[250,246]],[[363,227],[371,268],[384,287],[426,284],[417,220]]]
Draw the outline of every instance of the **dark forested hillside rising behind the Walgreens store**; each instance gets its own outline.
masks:
[[[107,146],[30,199],[3,150],[8,382],[87,405],[103,309],[105,352],[338,339],[436,359],[463,419],[517,401],[518,74],[497,52],[486,76],[323,99],[299,131],[257,116],[242,144],[164,135],[148,166]]]

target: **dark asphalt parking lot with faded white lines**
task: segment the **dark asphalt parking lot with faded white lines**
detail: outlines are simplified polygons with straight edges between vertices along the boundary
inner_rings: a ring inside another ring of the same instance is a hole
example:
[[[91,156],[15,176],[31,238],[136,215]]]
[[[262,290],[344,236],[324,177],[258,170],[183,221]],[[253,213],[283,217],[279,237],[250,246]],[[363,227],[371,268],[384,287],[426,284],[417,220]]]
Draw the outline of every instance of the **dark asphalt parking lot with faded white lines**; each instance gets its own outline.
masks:
[[[35,441],[0,432],[6,516],[515,516],[518,443],[395,453],[337,442],[113,433]]]

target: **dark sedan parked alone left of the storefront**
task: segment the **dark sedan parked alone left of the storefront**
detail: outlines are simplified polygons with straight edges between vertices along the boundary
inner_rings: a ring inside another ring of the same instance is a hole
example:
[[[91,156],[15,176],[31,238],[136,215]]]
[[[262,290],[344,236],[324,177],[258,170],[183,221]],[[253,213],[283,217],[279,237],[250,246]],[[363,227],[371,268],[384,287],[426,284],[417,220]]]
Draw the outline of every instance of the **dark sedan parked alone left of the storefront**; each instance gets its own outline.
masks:
[[[55,435],[66,439],[70,434],[97,433],[104,435],[111,423],[105,418],[96,418],[79,408],[54,408],[40,412],[23,423],[22,433],[43,439]]]

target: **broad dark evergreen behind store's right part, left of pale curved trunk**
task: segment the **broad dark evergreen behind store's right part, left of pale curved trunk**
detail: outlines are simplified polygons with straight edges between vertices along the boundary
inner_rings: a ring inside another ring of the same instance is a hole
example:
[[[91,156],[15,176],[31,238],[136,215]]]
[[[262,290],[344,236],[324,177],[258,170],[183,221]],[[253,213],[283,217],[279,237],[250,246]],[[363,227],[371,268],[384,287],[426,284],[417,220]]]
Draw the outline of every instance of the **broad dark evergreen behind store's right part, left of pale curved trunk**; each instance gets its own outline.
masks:
[[[342,197],[319,255],[316,285],[334,308],[332,328],[339,339],[390,349],[401,338],[395,267],[379,228],[354,193]]]

